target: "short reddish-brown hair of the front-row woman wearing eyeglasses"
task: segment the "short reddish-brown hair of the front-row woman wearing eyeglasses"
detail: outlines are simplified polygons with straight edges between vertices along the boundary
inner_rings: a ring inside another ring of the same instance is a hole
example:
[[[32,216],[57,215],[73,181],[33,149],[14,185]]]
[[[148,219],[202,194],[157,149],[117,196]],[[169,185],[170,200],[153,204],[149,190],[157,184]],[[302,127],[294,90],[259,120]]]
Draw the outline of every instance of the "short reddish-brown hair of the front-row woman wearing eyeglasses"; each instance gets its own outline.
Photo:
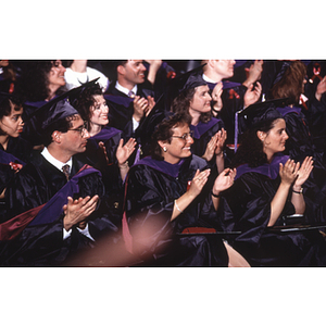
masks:
[[[167,140],[171,142],[171,136],[173,136],[173,129],[178,126],[190,125],[191,116],[185,112],[179,112],[165,117],[155,128],[152,135],[151,141],[151,156],[154,160],[163,161],[162,149],[159,145],[159,140]]]

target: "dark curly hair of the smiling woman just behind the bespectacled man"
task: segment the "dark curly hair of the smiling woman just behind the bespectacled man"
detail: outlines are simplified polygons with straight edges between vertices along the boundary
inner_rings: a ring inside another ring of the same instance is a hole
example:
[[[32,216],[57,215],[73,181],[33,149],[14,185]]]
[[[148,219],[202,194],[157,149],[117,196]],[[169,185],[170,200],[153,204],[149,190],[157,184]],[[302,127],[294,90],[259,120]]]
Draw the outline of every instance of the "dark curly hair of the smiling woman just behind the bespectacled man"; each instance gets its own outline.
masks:
[[[93,96],[97,95],[103,95],[103,92],[99,84],[93,84],[86,87],[74,101],[74,108],[79,112],[84,121],[90,122],[92,115],[90,108],[96,104]],[[90,124],[88,124],[89,127]]]

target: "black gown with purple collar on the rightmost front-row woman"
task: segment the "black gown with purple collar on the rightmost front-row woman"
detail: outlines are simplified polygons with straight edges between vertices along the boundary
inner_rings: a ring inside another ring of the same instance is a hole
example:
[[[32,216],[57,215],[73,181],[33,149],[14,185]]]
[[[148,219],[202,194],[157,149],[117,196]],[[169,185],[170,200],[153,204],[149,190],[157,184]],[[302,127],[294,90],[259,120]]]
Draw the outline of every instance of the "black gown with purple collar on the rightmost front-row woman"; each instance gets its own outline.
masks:
[[[325,241],[317,230],[275,233],[267,227],[280,183],[278,164],[287,159],[277,155],[271,165],[258,168],[239,166],[234,186],[224,192],[221,224],[225,231],[241,231],[230,241],[251,266],[324,266]],[[294,212],[289,197],[275,225]]]

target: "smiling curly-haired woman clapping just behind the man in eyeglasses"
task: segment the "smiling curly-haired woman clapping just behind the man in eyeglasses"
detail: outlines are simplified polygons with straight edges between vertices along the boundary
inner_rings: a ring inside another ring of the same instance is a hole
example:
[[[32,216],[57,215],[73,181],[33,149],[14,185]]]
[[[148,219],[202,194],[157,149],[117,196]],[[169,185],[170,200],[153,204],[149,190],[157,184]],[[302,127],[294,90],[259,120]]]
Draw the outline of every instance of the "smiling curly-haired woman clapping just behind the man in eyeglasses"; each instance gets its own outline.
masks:
[[[123,184],[136,141],[130,138],[124,143],[124,134],[108,125],[110,108],[97,79],[84,84],[84,87],[79,87],[70,96],[70,102],[87,122],[91,136],[87,141],[86,151],[78,153],[76,158],[101,172],[105,186],[105,198],[102,201],[112,217],[115,216],[115,224],[121,227]]]

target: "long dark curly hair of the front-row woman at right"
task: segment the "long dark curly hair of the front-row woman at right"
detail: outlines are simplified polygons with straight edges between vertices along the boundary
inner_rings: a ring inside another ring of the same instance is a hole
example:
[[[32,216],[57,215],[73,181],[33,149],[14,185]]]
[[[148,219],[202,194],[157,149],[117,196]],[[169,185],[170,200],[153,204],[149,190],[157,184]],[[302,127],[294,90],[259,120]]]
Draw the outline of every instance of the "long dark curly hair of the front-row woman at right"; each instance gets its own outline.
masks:
[[[263,131],[268,135],[279,120],[266,120],[256,124],[254,127],[246,130],[241,136],[241,143],[231,160],[231,167],[238,167],[241,164],[248,164],[250,167],[256,167],[267,162],[267,155],[264,152],[263,142],[259,139],[256,133]]]

